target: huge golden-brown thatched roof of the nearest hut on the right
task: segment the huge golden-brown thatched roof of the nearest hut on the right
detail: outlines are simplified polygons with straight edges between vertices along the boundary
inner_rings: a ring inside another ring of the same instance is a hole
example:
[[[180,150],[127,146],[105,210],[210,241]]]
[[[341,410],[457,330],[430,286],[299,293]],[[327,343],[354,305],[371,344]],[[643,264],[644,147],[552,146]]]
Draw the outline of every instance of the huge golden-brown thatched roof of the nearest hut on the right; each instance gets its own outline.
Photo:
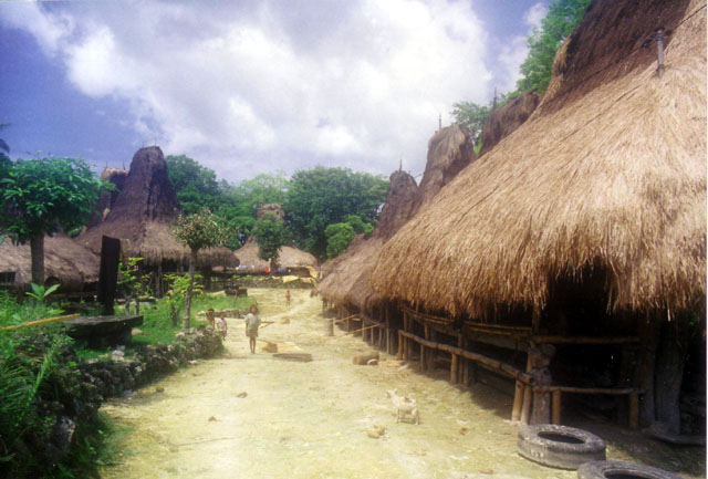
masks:
[[[613,310],[705,301],[706,2],[596,0],[554,72],[532,117],[384,246],[377,292],[541,310],[552,281],[595,269]]]

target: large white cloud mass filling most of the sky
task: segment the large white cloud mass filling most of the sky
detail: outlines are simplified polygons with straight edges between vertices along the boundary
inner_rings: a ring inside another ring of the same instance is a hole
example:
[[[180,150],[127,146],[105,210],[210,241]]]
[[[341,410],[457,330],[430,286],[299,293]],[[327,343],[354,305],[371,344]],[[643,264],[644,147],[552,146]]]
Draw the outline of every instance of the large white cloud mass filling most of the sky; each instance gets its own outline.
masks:
[[[22,7],[3,22],[60,55],[76,88],[126,102],[144,142],[229,180],[315,164],[388,174],[399,158],[417,174],[438,115],[485,102],[492,80],[462,0]]]

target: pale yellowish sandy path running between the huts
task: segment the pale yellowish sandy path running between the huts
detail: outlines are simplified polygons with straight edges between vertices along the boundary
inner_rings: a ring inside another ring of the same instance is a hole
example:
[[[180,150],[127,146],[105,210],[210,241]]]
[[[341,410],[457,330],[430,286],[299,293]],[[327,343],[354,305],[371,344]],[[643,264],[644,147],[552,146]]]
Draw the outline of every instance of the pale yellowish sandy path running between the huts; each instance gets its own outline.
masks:
[[[261,319],[275,321],[261,330],[261,339],[291,343],[281,344],[281,352],[301,350],[312,354],[312,362],[277,360],[261,351],[264,343],[250,354],[242,320],[231,320],[222,357],[102,407],[131,428],[118,465],[102,469],[102,477],[576,477],[517,455],[518,427],[508,420],[510,397],[485,384],[458,388],[446,381],[449,373],[423,375],[385,354],[382,365],[355,366],[352,356],[368,346],[339,330],[337,337],[326,337],[319,299],[309,291],[292,293],[288,309],[282,290],[249,290]],[[282,319],[290,323],[281,324]],[[391,388],[417,399],[420,425],[396,424],[386,396]],[[369,438],[366,430],[373,425],[385,427],[386,434]],[[622,434],[616,445],[610,444],[608,459],[650,456],[634,433]],[[687,459],[665,460],[681,468]],[[705,460],[702,473],[684,477],[705,477]]]

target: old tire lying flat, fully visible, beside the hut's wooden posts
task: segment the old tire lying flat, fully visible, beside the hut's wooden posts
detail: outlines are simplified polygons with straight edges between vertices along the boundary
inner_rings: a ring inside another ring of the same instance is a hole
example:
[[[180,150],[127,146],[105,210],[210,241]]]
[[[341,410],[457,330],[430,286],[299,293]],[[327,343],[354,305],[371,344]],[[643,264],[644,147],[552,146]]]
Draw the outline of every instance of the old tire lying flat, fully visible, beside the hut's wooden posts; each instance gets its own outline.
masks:
[[[553,424],[522,426],[519,455],[561,469],[577,469],[584,462],[605,459],[605,441],[586,430]]]

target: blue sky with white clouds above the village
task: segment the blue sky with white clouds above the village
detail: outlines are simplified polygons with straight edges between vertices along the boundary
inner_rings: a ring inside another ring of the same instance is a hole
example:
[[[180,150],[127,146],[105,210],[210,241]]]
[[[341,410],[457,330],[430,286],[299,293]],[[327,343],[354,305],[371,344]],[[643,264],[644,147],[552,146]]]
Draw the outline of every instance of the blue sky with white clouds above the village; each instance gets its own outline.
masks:
[[[127,167],[142,146],[238,183],[316,165],[417,175],[456,101],[513,88],[548,0],[0,3],[10,156]]]

